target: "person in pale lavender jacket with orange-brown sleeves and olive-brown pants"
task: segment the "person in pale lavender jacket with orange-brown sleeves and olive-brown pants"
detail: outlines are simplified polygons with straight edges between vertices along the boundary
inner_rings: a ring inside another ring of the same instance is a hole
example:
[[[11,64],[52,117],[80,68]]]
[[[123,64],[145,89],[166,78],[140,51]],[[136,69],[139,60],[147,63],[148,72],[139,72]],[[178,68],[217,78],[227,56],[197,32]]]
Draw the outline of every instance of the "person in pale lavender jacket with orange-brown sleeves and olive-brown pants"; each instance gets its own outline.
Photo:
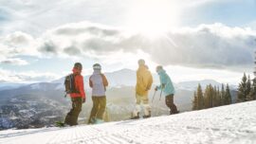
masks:
[[[89,117],[89,124],[97,124],[103,122],[103,114],[106,108],[106,86],[108,81],[101,73],[101,64],[95,63],[93,65],[93,75],[89,79],[89,85],[92,88],[93,107]]]

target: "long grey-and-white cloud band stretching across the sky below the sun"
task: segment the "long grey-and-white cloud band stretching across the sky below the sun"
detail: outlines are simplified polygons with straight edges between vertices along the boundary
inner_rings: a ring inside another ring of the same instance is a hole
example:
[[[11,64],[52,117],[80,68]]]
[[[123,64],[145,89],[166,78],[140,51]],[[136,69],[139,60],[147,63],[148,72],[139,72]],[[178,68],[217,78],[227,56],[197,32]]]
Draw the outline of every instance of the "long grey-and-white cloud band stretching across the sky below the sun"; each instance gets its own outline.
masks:
[[[252,66],[256,47],[256,31],[222,24],[181,27],[152,38],[125,28],[82,22],[49,29],[37,39],[23,36],[26,39],[16,34],[0,40],[7,47],[5,53],[109,61],[111,55],[140,50],[164,65],[243,70]],[[13,41],[7,41],[10,38]],[[25,42],[29,45],[23,47]]]

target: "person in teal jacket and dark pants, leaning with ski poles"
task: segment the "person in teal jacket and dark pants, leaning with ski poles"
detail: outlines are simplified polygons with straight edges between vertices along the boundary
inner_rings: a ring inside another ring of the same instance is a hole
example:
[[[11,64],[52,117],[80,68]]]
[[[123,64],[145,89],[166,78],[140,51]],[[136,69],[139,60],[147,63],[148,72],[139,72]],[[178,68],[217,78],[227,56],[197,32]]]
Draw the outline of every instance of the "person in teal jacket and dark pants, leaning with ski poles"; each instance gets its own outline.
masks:
[[[156,66],[155,70],[160,79],[160,85],[155,87],[155,91],[163,91],[165,95],[165,103],[170,108],[170,115],[177,114],[177,107],[174,104],[174,84],[161,65]]]

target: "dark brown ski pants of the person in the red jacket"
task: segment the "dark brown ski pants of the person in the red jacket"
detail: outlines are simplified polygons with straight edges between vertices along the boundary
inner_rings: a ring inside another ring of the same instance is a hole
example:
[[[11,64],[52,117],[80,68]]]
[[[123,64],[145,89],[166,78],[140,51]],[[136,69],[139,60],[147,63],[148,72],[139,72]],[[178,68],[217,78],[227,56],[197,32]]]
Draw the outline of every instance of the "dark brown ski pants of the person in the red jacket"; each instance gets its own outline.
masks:
[[[64,123],[72,126],[78,124],[78,117],[82,111],[82,98],[71,98],[71,101],[72,108],[64,118]]]

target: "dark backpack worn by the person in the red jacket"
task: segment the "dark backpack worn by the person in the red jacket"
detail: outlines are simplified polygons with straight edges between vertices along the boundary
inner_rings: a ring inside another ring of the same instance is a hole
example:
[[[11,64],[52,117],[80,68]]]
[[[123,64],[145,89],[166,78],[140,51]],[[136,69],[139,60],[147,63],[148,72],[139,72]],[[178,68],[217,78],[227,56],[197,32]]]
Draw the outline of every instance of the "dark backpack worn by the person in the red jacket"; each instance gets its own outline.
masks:
[[[76,89],[76,82],[75,82],[74,74],[67,75],[64,78],[64,88],[65,88],[66,94],[80,93],[79,90]]]

